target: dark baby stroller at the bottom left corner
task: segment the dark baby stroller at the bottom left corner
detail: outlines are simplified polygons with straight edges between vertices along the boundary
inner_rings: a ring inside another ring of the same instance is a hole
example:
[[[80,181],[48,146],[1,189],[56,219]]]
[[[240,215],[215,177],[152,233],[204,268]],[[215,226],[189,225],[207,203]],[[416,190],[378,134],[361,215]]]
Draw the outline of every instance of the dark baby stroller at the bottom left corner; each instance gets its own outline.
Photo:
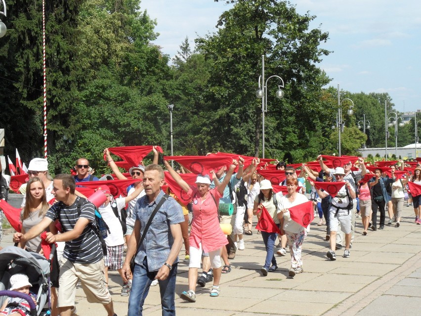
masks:
[[[50,315],[50,261],[39,253],[28,252],[14,246],[0,250],[0,305],[7,296],[19,297],[29,303],[32,316]],[[29,277],[29,282],[32,284],[31,292],[37,295],[37,304],[29,295],[8,291],[10,276],[16,273],[24,273]]]

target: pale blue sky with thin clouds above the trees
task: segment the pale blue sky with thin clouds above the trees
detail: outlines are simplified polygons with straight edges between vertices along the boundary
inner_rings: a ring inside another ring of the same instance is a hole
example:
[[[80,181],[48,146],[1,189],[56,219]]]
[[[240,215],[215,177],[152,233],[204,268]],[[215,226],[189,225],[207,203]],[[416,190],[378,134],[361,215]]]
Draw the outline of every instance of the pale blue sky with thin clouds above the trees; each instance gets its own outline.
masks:
[[[388,92],[398,111],[421,109],[421,1],[292,0],[300,14],[316,15],[311,28],[329,32],[332,50],[319,65],[331,85],[351,92]],[[174,56],[179,45],[215,32],[224,1],[142,0],[157,20],[154,42]],[[257,80],[257,78],[256,78]]]

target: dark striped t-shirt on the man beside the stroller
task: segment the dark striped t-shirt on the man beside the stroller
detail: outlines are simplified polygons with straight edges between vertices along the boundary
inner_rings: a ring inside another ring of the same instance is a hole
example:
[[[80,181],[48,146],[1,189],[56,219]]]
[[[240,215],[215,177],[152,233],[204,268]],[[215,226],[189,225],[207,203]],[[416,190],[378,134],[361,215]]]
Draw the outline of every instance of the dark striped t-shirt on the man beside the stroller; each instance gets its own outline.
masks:
[[[82,204],[80,216],[78,214],[79,201]],[[63,231],[73,230],[79,217],[89,220],[89,225],[84,228],[78,238],[66,241],[63,253],[64,258],[80,264],[95,263],[103,258],[99,237],[91,227],[92,223],[95,225],[95,207],[92,203],[78,196],[75,203],[70,206],[62,202],[55,203],[49,208],[45,216],[53,222],[59,219]]]

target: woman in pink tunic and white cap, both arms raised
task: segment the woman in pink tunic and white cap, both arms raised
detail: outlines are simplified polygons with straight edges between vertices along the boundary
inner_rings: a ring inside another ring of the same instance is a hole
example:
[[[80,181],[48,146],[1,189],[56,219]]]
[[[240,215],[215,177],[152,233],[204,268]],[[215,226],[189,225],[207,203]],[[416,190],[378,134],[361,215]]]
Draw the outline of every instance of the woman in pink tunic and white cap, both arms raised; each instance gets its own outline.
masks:
[[[211,297],[219,296],[219,280],[221,278],[221,249],[228,241],[219,226],[218,202],[224,194],[224,189],[230,181],[234,169],[238,165],[236,160],[228,169],[227,176],[216,187],[210,188],[211,179],[208,175],[198,175],[196,186],[190,186],[184,181],[168,161],[164,161],[171,177],[192,199],[193,221],[190,228],[190,264],[189,264],[189,290],[181,293],[181,298],[188,302],[196,302],[197,272],[200,268],[202,250],[209,253],[211,267],[213,268],[213,286]]]

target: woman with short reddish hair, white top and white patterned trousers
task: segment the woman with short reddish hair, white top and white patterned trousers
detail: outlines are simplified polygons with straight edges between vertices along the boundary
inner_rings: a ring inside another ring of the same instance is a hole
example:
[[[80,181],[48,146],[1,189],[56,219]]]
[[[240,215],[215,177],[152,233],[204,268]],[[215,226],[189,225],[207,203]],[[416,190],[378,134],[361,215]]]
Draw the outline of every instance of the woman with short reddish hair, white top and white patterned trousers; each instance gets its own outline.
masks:
[[[288,194],[278,201],[278,218],[281,221],[281,234],[286,234],[291,253],[291,269],[289,275],[294,277],[302,273],[301,247],[307,236],[309,226],[303,227],[291,219],[290,207],[308,202],[305,195],[296,192],[298,181],[295,178],[287,180]]]

